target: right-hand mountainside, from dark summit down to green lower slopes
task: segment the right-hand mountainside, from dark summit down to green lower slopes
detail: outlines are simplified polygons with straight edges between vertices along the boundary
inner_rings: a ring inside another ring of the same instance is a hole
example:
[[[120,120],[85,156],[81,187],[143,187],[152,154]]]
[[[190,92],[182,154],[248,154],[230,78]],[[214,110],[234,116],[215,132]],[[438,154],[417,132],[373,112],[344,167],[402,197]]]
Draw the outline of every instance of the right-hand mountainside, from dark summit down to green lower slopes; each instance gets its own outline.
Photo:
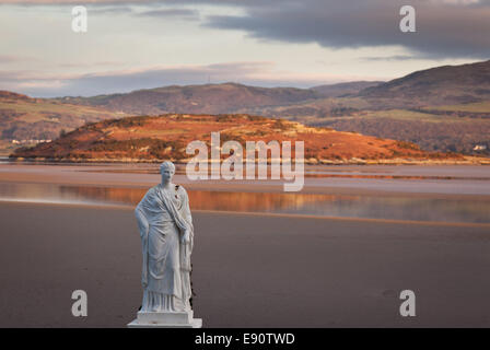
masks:
[[[428,151],[488,156],[490,61],[432,68],[358,94],[255,108],[253,113],[415,142]]]

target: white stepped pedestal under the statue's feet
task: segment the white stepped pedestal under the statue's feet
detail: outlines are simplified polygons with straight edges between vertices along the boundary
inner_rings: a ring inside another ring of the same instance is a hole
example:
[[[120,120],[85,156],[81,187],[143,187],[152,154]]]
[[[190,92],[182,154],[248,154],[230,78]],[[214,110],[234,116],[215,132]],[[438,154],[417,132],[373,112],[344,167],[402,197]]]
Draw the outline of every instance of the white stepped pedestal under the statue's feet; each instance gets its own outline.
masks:
[[[202,319],[194,318],[194,312],[138,312],[129,328],[201,328]]]

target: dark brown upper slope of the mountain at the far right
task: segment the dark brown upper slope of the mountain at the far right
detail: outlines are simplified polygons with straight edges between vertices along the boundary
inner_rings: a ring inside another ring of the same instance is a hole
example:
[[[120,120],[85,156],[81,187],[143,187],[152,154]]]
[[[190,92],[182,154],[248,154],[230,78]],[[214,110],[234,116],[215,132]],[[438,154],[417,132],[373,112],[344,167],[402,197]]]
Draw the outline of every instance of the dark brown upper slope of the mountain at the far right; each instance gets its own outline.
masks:
[[[366,98],[394,98],[404,105],[438,106],[490,100],[490,60],[443,66],[371,86],[359,94]]]

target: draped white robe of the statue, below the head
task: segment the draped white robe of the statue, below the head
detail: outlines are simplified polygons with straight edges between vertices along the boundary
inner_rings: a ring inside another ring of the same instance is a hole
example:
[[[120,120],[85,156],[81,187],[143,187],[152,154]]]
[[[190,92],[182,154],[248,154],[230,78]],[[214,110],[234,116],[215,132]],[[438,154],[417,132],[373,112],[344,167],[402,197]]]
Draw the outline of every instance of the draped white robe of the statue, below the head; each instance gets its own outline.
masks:
[[[142,310],[188,310],[194,226],[186,190],[177,185],[172,185],[170,189],[156,185],[147,192],[135,211],[143,253]],[[190,242],[184,244],[180,235],[186,230],[189,231]]]

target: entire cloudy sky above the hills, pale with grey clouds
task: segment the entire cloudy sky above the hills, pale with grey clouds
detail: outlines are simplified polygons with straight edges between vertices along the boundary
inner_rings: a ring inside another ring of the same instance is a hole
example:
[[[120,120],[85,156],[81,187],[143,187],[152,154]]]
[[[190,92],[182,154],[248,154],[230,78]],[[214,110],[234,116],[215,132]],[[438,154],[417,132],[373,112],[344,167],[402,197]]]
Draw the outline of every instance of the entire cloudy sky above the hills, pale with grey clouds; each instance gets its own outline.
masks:
[[[399,30],[404,4],[416,33]],[[487,59],[490,0],[0,0],[0,90],[32,96],[310,88]]]

